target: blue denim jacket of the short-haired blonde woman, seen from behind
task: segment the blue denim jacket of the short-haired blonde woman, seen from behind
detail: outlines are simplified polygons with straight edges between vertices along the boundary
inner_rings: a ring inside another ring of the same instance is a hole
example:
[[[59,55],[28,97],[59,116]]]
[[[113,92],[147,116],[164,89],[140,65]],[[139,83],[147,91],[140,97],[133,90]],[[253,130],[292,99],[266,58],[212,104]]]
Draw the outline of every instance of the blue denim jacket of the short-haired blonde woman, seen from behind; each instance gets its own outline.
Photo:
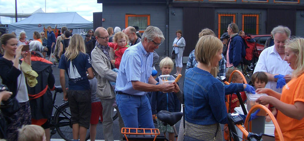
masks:
[[[185,120],[196,125],[227,123],[223,84],[209,72],[194,67],[185,74]]]

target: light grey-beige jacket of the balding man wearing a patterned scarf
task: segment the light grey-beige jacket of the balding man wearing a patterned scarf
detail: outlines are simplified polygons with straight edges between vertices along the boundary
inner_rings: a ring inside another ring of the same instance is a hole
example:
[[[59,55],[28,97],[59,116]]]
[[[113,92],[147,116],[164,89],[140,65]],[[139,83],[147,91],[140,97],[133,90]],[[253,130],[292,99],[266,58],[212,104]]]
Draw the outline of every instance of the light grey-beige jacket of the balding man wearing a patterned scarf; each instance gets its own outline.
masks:
[[[110,47],[109,56],[111,60],[114,60],[112,47]],[[117,73],[111,69],[111,60],[96,46],[92,50],[91,57],[93,71],[97,78],[96,96],[103,99],[115,98],[115,93],[109,81],[116,82]]]

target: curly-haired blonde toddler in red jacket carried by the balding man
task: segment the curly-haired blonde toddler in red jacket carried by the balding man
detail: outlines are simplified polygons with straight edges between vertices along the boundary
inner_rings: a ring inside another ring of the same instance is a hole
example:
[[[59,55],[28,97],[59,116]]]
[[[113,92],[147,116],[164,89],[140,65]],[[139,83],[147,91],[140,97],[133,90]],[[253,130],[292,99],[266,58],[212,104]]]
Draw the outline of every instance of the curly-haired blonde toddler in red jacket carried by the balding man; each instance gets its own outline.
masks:
[[[115,33],[113,43],[109,42],[108,45],[114,49],[114,60],[111,60],[111,63],[119,69],[123,53],[129,47],[129,38],[125,33],[120,31]]]

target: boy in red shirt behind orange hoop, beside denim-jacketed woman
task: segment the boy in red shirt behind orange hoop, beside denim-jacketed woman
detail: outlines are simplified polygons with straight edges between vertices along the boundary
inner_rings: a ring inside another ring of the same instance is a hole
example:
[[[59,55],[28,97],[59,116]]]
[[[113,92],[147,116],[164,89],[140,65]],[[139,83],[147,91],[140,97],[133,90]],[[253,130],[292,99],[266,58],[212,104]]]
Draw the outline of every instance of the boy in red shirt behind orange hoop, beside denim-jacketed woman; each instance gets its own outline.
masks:
[[[238,70],[238,69],[230,68],[227,70],[227,73],[226,73],[227,80],[229,80],[229,77],[234,70]],[[231,77],[231,82],[232,83],[244,83],[244,80],[239,73],[234,73]],[[246,96],[245,92],[242,91],[242,92],[240,92],[240,94],[241,94],[243,102],[245,103],[245,101],[247,100],[247,96]],[[233,93],[230,97],[230,113],[233,113],[234,108],[239,107],[239,106],[240,106],[240,101],[237,98],[237,94]]]

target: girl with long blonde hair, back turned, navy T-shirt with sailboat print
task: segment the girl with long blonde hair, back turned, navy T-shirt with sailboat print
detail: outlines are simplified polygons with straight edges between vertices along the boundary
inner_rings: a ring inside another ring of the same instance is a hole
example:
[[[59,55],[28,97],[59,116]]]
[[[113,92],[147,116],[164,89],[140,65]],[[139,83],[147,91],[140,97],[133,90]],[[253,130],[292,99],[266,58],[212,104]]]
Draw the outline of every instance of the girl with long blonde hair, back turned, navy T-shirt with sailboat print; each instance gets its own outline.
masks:
[[[85,43],[81,35],[74,34],[69,47],[60,57],[60,84],[64,100],[69,101],[73,141],[85,140],[87,129],[90,127],[91,118],[91,93],[89,79],[94,78],[91,59],[85,52]],[[88,76],[86,74],[88,71]],[[69,77],[69,89],[65,89],[65,75]]]

